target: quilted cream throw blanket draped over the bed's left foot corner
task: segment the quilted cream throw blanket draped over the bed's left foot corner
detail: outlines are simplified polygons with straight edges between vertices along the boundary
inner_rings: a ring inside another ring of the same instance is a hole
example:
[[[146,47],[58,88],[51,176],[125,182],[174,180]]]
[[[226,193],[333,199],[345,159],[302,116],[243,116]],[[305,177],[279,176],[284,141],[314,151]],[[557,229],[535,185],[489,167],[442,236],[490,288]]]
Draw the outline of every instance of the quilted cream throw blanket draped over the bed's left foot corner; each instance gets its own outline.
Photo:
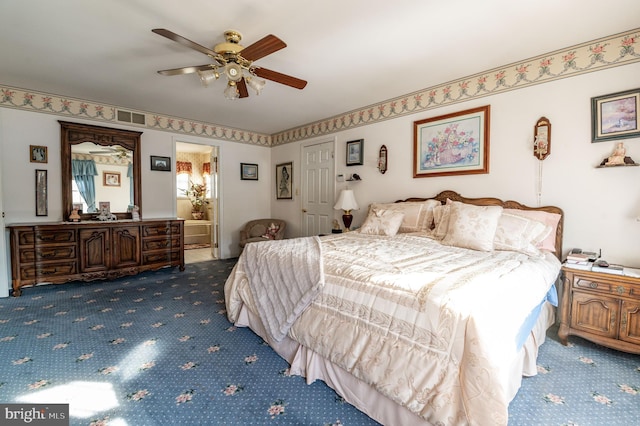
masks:
[[[281,341],[324,285],[320,239],[250,243],[239,263],[269,337]]]

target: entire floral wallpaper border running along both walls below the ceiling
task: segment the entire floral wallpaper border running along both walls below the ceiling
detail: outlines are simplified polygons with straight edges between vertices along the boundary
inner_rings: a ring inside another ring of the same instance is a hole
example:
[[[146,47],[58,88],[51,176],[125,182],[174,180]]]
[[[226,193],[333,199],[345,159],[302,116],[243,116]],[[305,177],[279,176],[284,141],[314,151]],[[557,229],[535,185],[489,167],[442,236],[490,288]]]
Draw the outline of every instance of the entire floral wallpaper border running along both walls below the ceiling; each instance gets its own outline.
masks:
[[[640,53],[636,51],[639,42],[640,28],[637,28],[494,68],[273,135],[152,112],[132,111],[129,108],[2,85],[0,85],[0,107],[112,123],[122,123],[116,119],[116,114],[118,109],[125,109],[143,114],[147,124],[142,127],[149,129],[251,145],[276,146],[509,90],[639,62]]]

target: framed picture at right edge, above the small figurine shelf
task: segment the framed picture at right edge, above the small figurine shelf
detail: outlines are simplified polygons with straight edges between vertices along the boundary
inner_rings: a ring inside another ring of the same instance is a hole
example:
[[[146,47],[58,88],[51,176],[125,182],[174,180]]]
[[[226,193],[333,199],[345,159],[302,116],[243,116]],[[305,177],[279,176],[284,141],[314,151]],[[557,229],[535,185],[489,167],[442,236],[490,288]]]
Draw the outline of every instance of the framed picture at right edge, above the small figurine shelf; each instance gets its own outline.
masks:
[[[591,141],[640,136],[640,89],[591,98]]]

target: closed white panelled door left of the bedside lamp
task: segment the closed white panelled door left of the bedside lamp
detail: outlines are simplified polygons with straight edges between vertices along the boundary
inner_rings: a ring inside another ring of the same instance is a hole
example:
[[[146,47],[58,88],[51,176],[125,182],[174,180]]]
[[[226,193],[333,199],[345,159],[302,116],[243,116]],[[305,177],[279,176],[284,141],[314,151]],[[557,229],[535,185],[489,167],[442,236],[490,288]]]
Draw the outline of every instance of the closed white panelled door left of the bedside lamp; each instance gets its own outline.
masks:
[[[302,148],[302,232],[304,236],[331,233],[334,204],[335,141]]]

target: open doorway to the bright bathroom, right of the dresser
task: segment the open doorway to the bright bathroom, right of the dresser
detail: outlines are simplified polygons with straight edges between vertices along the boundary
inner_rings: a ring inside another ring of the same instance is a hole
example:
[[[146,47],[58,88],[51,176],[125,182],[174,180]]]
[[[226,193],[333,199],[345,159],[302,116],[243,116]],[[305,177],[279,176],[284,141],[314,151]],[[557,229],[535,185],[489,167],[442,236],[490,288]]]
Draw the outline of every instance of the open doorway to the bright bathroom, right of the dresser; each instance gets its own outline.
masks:
[[[185,262],[218,259],[218,147],[176,142],[176,212],[185,219]]]

